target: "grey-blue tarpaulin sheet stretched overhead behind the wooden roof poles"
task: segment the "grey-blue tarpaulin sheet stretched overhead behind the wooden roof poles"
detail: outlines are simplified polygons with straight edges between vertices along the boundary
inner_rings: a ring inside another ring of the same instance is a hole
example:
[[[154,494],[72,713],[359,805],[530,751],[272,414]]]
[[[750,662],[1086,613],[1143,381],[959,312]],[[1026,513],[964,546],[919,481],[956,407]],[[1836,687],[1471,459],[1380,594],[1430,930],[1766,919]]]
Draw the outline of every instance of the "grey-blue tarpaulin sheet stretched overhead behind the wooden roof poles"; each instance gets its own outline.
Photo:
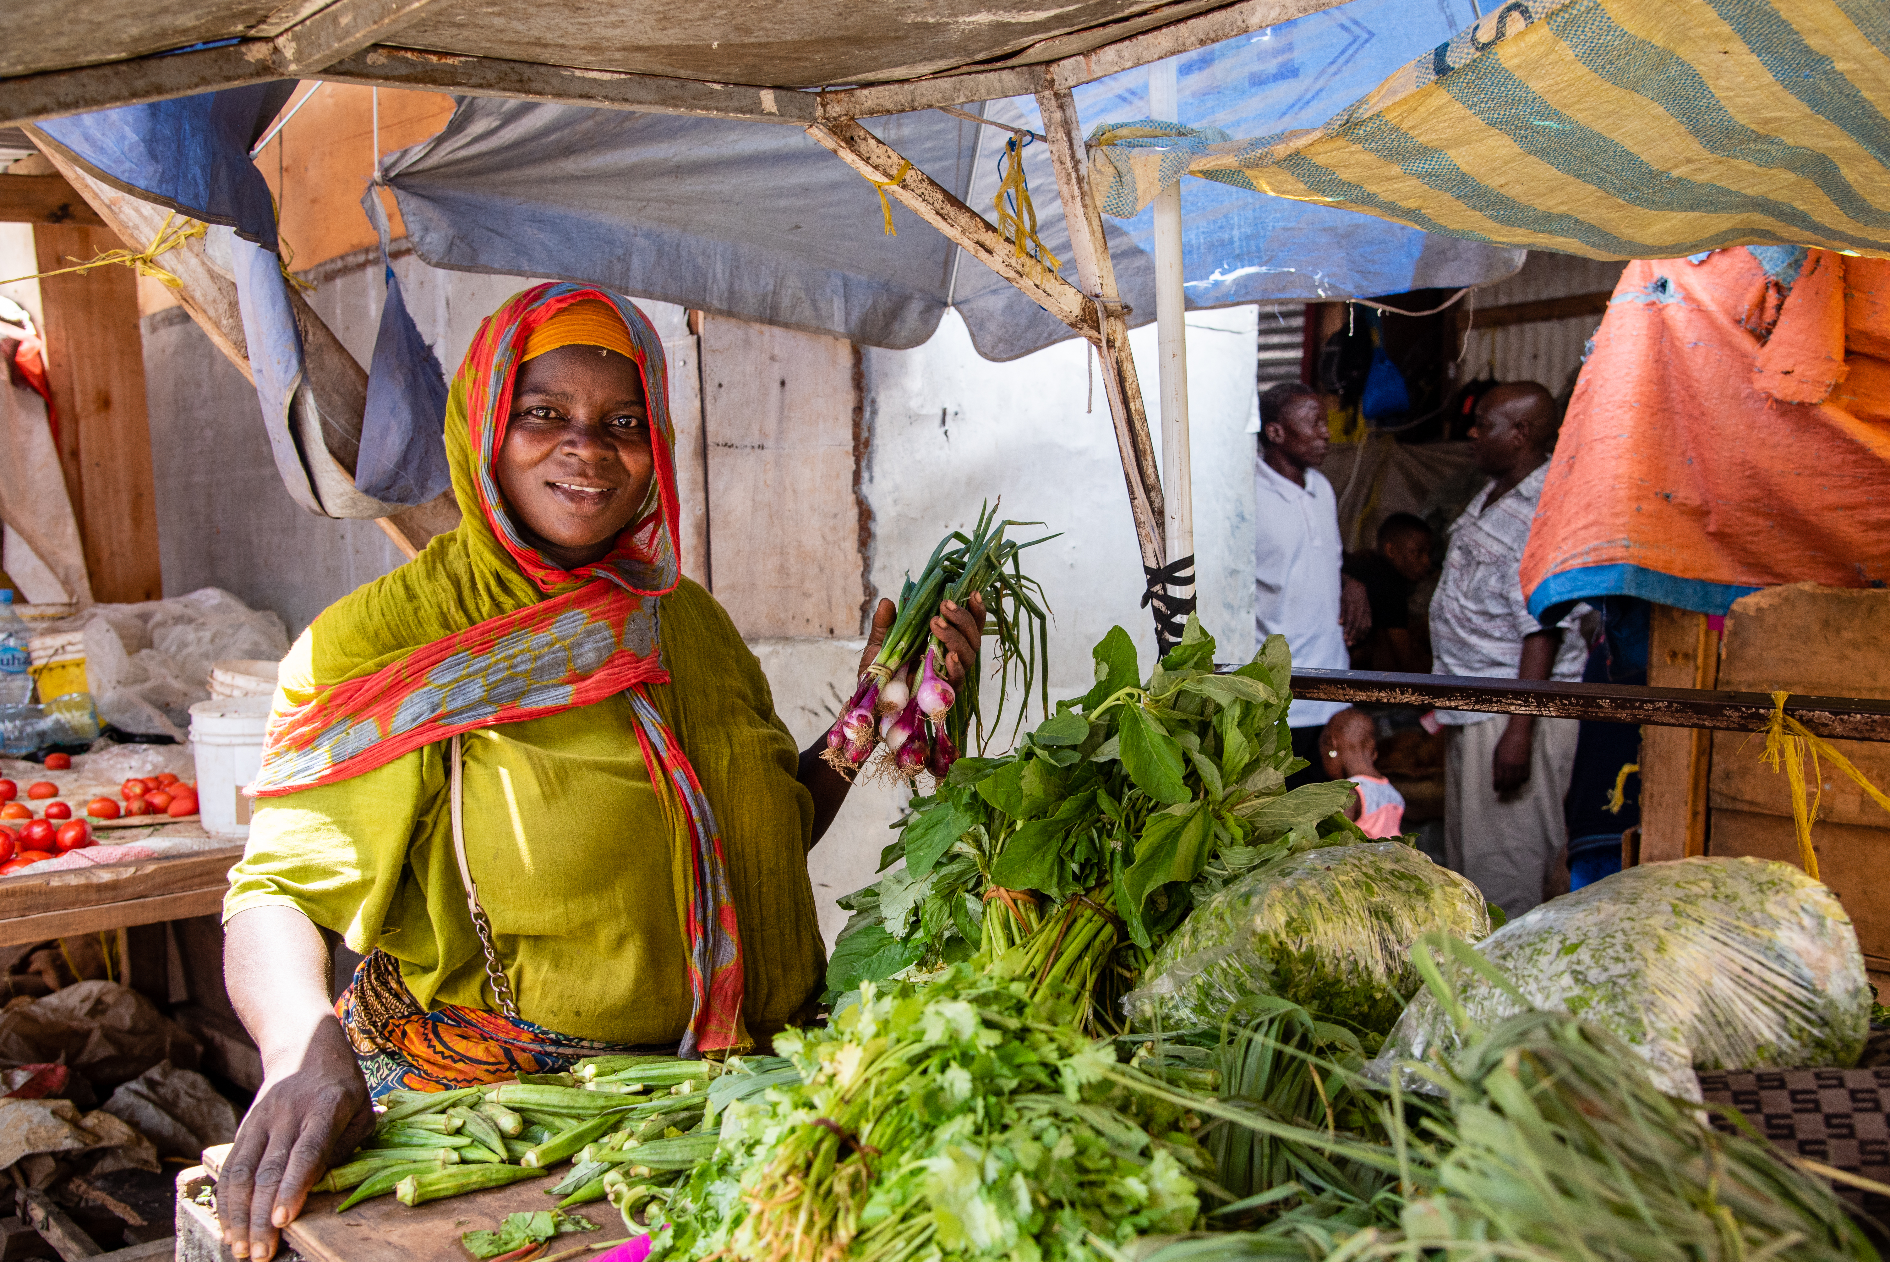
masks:
[[[1234,134],[1317,125],[1472,19],[1469,0],[1353,0],[1228,40],[1179,60],[1181,113]],[[1085,125],[1145,117],[1147,79],[1077,89]],[[1041,128],[1028,98],[987,110]],[[937,111],[866,125],[994,217],[1009,132]],[[1024,157],[1043,244],[1074,276],[1049,157]],[[1072,336],[903,208],[885,236],[875,189],[794,127],[467,98],[444,132],[386,157],[382,178],[435,266],[584,280],[890,348],[919,346],[956,306],[990,359]],[[1476,285],[1521,263],[1520,249],[1202,179],[1183,185],[1183,225],[1191,306]],[[1145,323],[1153,212],[1106,230],[1132,323]]]

